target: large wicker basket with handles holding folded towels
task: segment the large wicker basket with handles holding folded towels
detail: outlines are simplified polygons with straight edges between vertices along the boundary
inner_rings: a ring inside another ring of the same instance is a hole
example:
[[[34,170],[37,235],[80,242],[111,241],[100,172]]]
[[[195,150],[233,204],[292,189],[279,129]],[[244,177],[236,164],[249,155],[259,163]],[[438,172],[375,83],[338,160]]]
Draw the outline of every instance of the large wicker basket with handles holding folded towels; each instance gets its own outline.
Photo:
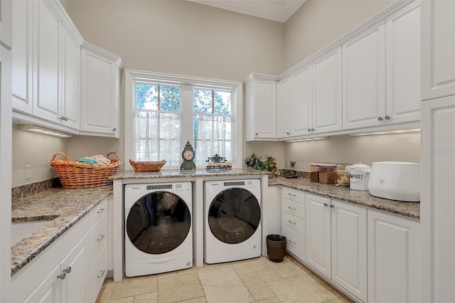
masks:
[[[110,159],[109,156],[114,154],[115,159]],[[64,156],[63,160],[56,160],[55,156]],[[63,188],[88,188],[104,186],[109,181],[109,176],[117,172],[117,169],[122,165],[119,155],[111,151],[106,158],[111,160],[110,164],[93,166],[78,161],[68,160],[68,156],[63,152],[57,152],[53,155],[49,164],[60,179]]]

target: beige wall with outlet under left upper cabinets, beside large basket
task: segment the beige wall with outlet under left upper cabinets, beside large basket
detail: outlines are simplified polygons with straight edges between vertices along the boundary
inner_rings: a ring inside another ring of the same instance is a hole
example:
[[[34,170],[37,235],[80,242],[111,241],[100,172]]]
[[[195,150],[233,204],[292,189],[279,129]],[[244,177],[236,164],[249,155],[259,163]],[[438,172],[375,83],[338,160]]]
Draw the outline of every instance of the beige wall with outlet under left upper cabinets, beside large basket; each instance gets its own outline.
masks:
[[[53,154],[58,151],[67,153],[68,139],[52,137],[45,134],[34,134],[19,130],[18,124],[13,124],[13,159],[12,184],[29,184],[55,177],[49,165]],[[57,159],[63,159],[58,156]],[[31,178],[26,179],[26,165],[31,165]]]

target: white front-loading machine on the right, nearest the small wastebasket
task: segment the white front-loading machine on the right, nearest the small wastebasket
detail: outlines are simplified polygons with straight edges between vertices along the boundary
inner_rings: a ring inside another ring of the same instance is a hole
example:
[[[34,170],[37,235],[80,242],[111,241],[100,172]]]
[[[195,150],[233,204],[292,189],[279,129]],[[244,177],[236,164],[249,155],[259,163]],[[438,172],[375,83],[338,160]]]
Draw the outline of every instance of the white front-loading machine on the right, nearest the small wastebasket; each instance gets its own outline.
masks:
[[[208,264],[261,255],[259,179],[205,181],[204,259]]]

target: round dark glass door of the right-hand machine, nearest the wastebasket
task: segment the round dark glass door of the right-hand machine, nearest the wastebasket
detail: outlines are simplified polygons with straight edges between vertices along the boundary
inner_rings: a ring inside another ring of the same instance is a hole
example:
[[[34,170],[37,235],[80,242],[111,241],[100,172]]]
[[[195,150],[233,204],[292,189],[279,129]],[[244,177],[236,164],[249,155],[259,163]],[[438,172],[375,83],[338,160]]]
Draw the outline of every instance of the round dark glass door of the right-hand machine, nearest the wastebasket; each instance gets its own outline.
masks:
[[[230,244],[242,243],[259,226],[261,208],[257,198],[244,188],[229,188],[213,199],[208,225],[215,237]]]

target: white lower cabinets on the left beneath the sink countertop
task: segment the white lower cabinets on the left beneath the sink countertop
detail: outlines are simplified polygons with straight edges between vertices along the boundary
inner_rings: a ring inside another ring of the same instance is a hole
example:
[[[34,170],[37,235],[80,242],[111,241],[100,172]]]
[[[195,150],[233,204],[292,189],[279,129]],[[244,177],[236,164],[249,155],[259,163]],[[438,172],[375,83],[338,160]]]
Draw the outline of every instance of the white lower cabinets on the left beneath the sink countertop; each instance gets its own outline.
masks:
[[[107,202],[11,278],[11,302],[95,302],[107,275]]]

